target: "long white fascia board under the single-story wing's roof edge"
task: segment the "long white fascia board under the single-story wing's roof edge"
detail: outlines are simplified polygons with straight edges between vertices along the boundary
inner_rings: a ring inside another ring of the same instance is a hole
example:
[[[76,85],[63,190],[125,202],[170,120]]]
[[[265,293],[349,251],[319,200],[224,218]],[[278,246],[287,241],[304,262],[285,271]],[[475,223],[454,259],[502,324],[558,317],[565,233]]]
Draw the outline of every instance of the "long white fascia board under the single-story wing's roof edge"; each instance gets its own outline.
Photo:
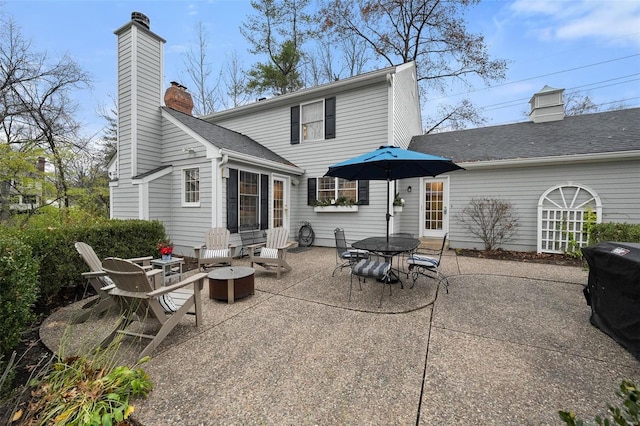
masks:
[[[559,155],[553,157],[513,158],[506,160],[456,162],[457,165],[470,169],[486,169],[496,167],[526,167],[556,164],[593,163],[613,160],[640,160],[640,150],[598,152],[593,154]]]

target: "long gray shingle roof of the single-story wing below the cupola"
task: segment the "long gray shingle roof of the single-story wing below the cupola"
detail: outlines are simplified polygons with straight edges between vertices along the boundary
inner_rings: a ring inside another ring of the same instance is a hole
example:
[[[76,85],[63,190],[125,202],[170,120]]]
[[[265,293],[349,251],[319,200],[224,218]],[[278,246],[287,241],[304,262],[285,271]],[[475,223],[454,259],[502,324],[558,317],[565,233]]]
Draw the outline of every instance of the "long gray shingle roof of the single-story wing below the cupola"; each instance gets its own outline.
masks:
[[[455,162],[640,150],[640,108],[414,136],[409,149]]]

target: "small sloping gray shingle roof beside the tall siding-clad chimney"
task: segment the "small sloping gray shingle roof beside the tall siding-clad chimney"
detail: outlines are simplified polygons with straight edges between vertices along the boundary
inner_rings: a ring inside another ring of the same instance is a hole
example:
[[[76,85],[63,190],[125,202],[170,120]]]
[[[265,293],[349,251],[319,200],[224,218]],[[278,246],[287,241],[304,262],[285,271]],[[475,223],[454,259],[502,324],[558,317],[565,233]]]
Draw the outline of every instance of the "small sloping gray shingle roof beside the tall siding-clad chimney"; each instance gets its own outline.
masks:
[[[234,132],[217,124],[208,123],[171,108],[162,107],[162,109],[218,148],[237,152],[242,155],[263,158],[276,163],[286,164],[287,166],[295,166],[295,164],[242,133]]]

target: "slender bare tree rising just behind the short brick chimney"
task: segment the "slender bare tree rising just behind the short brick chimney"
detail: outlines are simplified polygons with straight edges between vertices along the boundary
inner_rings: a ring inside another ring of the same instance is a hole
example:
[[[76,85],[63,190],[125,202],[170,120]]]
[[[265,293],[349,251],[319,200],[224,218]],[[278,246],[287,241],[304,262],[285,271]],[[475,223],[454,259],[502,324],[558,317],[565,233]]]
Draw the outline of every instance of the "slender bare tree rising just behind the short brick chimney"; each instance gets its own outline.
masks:
[[[207,59],[209,43],[202,21],[196,23],[195,33],[195,47],[185,53],[184,66],[195,87],[191,90],[194,115],[206,115],[217,109],[220,79],[216,78],[215,84],[211,84],[213,67]]]

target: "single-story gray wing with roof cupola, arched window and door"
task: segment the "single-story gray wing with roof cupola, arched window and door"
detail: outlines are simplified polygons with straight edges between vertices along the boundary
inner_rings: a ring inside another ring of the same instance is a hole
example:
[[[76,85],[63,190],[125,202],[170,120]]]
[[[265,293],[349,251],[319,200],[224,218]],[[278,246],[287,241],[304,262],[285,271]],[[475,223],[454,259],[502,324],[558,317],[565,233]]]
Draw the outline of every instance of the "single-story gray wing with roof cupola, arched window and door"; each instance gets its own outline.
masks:
[[[481,197],[517,212],[516,238],[502,247],[510,250],[583,245],[588,211],[597,222],[640,223],[640,108],[565,117],[562,93],[548,86],[536,93],[529,122],[414,136],[410,149],[449,157],[466,171],[403,182],[402,230],[448,232],[452,248],[483,249],[457,220]]]

